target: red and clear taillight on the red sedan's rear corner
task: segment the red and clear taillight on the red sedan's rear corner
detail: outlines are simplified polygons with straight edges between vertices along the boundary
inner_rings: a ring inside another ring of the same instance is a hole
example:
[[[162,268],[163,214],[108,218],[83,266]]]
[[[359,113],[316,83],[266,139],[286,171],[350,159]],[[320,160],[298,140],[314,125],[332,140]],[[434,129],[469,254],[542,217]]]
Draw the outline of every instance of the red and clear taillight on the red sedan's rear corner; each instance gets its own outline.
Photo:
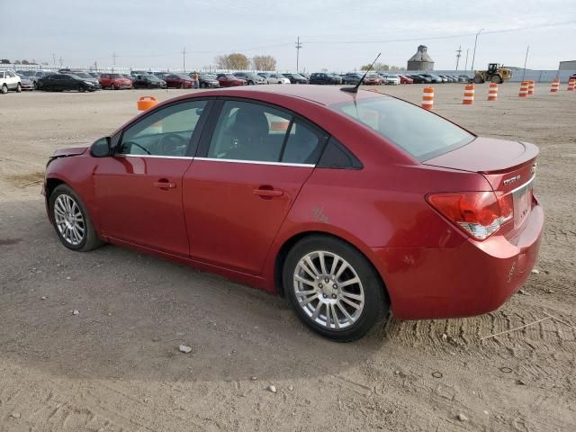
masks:
[[[514,217],[511,193],[431,193],[426,199],[448,220],[477,240],[489,238]]]

